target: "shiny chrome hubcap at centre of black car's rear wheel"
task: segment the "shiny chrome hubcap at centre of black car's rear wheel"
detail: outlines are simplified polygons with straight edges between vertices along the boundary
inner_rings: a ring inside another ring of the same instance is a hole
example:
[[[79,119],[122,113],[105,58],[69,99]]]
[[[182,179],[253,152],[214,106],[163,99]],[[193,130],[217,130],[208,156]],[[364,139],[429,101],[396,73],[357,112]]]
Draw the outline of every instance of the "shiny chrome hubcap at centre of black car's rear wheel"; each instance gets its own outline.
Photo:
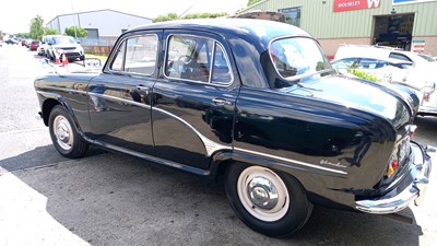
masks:
[[[277,191],[269,179],[255,177],[250,180],[247,192],[250,200],[260,209],[270,210],[277,204]]]

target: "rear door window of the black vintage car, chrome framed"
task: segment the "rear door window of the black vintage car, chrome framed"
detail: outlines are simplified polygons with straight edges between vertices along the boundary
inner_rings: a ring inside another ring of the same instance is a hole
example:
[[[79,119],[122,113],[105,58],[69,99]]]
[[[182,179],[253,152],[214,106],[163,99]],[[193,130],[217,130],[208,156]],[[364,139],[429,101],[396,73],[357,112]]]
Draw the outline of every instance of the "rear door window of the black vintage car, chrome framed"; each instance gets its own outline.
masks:
[[[168,78],[194,82],[232,83],[225,49],[216,40],[205,37],[169,36],[164,73]]]

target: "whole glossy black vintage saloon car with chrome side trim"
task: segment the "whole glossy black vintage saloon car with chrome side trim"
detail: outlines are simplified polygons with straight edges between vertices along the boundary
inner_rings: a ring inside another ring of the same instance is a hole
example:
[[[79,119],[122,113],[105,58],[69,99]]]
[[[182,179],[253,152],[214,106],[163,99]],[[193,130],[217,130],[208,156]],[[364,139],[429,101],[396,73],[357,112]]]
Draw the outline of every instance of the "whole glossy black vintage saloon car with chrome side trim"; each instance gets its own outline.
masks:
[[[47,74],[35,89],[62,155],[95,144],[224,176],[235,213],[275,237],[312,204],[383,214],[418,202],[435,153],[411,140],[408,89],[341,77],[316,39],[271,21],[135,27],[102,71]]]

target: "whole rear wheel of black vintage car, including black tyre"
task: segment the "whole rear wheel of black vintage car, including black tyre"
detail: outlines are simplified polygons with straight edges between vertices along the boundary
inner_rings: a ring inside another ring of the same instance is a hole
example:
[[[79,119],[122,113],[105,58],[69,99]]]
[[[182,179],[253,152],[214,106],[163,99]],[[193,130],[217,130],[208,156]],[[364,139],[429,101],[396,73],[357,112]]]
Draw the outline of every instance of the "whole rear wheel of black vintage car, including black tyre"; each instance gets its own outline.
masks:
[[[312,204],[296,178],[263,166],[231,164],[226,171],[225,190],[238,218],[268,236],[293,234],[312,211]]]

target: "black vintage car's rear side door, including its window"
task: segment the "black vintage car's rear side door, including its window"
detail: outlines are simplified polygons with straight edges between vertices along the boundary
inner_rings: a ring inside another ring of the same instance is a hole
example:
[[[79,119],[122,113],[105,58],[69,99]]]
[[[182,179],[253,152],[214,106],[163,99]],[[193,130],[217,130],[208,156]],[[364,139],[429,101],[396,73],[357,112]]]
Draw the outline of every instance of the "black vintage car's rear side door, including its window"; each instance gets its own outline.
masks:
[[[165,59],[153,87],[153,134],[158,157],[206,169],[232,149],[239,80],[220,36],[165,31]]]

